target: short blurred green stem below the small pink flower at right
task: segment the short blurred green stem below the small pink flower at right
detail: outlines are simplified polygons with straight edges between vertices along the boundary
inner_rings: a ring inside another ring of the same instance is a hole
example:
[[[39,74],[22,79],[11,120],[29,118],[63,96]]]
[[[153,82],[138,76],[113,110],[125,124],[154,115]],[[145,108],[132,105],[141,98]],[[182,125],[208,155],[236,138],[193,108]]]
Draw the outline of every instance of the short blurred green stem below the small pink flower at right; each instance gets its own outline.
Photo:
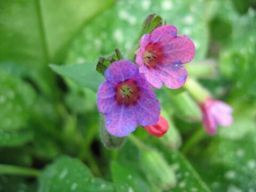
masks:
[[[195,146],[196,143],[201,141],[206,136],[204,129],[200,127],[189,139],[188,141],[182,146],[181,152],[186,154],[191,147]]]

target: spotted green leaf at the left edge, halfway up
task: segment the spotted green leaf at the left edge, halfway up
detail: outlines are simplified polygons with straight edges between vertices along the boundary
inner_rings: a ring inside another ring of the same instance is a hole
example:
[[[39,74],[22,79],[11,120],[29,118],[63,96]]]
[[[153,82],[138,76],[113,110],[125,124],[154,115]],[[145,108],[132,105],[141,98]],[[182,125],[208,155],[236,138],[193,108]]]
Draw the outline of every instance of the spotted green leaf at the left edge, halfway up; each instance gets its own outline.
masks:
[[[20,78],[0,69],[0,130],[17,130],[26,126],[35,92]]]

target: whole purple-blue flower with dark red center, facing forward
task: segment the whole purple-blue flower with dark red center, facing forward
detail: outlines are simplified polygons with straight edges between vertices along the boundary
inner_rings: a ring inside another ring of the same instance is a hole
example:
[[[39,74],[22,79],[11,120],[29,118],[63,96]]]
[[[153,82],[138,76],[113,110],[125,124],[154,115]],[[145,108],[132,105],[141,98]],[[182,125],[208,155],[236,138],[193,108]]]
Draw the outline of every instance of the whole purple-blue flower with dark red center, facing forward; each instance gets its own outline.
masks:
[[[160,104],[138,67],[128,60],[112,63],[97,95],[98,109],[106,116],[107,131],[125,137],[138,125],[155,125]]]

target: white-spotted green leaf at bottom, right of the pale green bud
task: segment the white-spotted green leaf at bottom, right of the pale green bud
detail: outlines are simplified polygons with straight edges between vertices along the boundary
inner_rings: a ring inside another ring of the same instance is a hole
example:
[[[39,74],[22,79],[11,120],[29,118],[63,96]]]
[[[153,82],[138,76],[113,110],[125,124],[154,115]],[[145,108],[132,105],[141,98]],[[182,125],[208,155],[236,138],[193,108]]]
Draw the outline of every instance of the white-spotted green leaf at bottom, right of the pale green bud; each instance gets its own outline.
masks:
[[[164,149],[166,158],[172,163],[172,168],[175,171],[177,185],[171,191],[207,191],[210,189],[199,177],[193,166],[187,161],[179,151],[167,151]]]

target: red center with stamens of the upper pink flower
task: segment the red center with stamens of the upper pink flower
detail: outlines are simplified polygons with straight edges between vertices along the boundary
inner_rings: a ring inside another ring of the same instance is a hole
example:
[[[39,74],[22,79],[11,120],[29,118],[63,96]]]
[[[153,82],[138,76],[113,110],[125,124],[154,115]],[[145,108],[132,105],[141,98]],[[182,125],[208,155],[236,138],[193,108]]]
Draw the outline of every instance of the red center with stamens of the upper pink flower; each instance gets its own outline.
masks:
[[[143,54],[143,61],[147,67],[156,67],[159,59],[161,58],[160,47],[157,44],[149,43],[145,47]]]

